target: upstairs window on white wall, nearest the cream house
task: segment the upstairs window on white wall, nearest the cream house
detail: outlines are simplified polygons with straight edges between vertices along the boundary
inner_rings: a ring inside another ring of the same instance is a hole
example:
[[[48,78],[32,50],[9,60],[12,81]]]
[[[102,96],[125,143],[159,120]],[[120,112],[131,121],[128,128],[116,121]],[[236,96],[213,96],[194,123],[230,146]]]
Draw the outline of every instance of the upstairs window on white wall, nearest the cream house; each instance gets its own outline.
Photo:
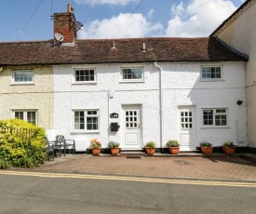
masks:
[[[74,70],[74,82],[76,83],[95,83],[96,73],[94,69],[77,69]]]

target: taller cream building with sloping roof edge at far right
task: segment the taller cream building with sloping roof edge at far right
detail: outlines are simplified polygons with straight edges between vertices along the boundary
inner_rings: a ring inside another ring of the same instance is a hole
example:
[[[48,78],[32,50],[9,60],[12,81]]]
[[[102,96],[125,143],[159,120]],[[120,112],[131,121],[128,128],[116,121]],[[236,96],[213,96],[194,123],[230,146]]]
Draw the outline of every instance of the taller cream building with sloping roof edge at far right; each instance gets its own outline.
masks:
[[[227,20],[222,22],[211,38],[249,56],[245,64],[249,147],[256,151],[256,1],[247,0]]]

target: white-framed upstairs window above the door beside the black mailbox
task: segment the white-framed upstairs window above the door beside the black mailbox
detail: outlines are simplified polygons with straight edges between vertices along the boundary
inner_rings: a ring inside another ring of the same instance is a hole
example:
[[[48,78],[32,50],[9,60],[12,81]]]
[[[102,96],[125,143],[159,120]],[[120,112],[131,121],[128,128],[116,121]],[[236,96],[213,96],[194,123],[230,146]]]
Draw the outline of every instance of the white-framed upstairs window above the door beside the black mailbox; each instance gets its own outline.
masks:
[[[121,80],[124,82],[141,82],[143,80],[141,68],[123,68],[121,73]]]

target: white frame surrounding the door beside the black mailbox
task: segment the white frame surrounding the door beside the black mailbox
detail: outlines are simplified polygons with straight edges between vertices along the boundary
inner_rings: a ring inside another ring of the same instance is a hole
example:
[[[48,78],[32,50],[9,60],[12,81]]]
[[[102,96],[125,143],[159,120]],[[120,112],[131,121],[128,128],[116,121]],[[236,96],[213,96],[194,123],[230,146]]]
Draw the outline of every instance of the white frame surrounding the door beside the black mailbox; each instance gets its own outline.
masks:
[[[139,111],[139,121],[138,124],[140,124],[139,128],[139,142],[138,142],[138,148],[126,148],[125,147],[125,129],[126,129],[126,117],[125,117],[125,110],[126,108],[138,108]],[[120,147],[122,150],[141,150],[142,149],[142,105],[141,104],[122,104],[121,105],[121,143]]]

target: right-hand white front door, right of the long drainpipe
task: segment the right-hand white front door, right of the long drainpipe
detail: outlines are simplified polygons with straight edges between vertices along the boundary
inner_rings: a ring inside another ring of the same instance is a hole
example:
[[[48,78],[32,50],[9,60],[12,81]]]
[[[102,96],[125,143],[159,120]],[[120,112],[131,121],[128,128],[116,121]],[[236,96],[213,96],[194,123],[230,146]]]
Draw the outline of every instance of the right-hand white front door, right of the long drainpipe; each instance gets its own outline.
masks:
[[[195,151],[195,107],[180,107],[180,149]]]

